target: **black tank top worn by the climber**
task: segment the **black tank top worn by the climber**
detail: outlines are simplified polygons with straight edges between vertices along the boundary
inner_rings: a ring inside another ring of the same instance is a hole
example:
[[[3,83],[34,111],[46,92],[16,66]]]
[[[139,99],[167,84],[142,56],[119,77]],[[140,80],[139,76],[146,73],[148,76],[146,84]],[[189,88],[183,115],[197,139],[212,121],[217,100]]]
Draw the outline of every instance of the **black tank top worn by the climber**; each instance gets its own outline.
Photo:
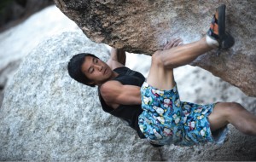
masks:
[[[141,74],[140,72],[132,71],[128,67],[118,67],[113,71],[119,73],[119,76],[113,78],[113,80],[117,80],[124,85],[129,84],[141,87],[143,85],[143,82],[145,81],[143,74]],[[125,120],[129,124],[129,126],[131,126],[131,128],[137,131],[137,134],[140,138],[145,138],[138,126],[138,116],[143,113],[141,105],[119,105],[119,107],[113,109],[112,107],[109,107],[103,100],[99,88],[98,95],[102,104],[102,109],[105,112],[110,113],[115,117],[118,117],[119,119]]]

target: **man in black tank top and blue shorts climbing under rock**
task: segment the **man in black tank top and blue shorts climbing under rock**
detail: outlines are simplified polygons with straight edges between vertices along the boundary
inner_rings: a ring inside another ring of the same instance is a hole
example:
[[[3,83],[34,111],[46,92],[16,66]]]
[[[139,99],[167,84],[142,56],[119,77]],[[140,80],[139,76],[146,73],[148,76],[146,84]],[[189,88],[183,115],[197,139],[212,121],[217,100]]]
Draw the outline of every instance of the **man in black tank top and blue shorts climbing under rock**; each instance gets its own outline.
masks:
[[[112,50],[107,63],[95,55],[74,55],[68,72],[82,84],[97,85],[103,110],[125,119],[141,138],[154,145],[221,143],[227,124],[247,135],[256,135],[256,117],[236,102],[198,105],[180,101],[173,76],[173,68],[212,49],[229,49],[234,44],[225,31],[225,5],[216,10],[204,38],[185,45],[181,42],[174,39],[152,55],[147,81],[141,73],[124,66],[125,55],[118,49]],[[119,55],[124,57],[119,59]]]

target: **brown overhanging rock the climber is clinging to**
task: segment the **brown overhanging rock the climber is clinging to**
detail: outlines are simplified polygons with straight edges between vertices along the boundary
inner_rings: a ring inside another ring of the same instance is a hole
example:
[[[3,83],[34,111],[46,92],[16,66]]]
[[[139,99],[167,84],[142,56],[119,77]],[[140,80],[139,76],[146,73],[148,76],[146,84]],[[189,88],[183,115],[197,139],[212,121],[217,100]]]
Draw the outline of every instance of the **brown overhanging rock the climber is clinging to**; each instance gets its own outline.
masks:
[[[181,37],[185,43],[199,40],[220,3],[227,5],[227,29],[236,44],[220,56],[215,55],[216,50],[202,55],[192,65],[256,96],[256,1],[55,0],[91,40],[148,55],[161,49],[169,38]]]

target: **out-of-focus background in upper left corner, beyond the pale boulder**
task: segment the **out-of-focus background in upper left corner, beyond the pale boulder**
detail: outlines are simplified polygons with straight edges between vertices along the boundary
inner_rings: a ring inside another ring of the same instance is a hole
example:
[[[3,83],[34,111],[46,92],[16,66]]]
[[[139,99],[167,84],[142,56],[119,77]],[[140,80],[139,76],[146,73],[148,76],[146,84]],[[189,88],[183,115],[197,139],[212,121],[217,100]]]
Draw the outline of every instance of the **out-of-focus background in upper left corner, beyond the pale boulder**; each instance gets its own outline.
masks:
[[[46,7],[51,9],[40,14]],[[3,91],[22,59],[44,38],[72,28],[78,27],[52,0],[0,1],[0,107]]]

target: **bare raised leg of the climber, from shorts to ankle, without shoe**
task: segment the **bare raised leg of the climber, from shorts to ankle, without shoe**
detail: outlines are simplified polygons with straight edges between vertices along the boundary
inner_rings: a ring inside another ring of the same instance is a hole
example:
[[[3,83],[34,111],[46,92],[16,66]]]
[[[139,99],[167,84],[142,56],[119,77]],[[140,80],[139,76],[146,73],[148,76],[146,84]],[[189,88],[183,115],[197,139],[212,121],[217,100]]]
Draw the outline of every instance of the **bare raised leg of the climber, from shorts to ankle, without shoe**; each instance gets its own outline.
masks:
[[[175,85],[172,69],[188,64],[211,49],[206,38],[202,38],[195,43],[155,52],[152,55],[147,83],[161,90],[172,89]]]

